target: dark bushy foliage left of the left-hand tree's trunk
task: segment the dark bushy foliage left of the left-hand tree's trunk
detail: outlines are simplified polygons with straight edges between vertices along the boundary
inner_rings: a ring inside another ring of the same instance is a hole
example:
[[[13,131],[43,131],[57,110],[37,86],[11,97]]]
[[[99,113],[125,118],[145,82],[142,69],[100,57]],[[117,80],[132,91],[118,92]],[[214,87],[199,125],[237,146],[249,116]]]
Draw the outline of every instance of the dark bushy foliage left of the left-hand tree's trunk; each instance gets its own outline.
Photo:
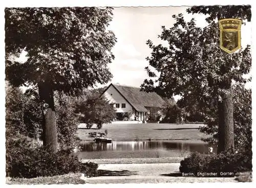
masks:
[[[6,136],[23,134],[40,138],[41,110],[36,92],[29,89],[24,94],[18,87],[6,83]]]

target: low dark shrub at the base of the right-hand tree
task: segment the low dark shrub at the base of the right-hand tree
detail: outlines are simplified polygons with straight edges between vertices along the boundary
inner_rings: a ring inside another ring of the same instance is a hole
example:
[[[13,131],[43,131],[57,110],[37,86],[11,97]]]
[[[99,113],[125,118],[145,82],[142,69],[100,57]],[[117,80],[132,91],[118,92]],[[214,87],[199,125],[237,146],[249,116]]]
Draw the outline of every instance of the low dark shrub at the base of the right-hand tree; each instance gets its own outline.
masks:
[[[245,172],[252,170],[252,152],[221,152],[214,155],[192,153],[180,163],[180,172]]]

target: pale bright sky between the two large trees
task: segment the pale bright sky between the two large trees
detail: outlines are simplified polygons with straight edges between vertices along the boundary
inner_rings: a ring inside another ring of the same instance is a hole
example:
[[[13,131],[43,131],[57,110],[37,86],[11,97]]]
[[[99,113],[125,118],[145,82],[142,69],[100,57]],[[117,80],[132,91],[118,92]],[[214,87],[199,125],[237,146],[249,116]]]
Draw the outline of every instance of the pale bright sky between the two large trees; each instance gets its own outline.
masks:
[[[145,66],[148,66],[146,57],[151,55],[151,49],[146,45],[150,39],[154,44],[164,43],[158,38],[161,26],[170,28],[175,20],[174,14],[182,13],[184,19],[196,19],[200,27],[207,25],[205,15],[187,14],[188,7],[119,7],[113,10],[113,20],[109,30],[112,30],[117,42],[112,50],[115,59],[109,68],[113,74],[110,83],[139,87],[145,78],[148,78]],[[242,48],[251,42],[251,23],[241,27]],[[106,84],[106,85],[108,85]],[[98,85],[102,86],[102,85]]]

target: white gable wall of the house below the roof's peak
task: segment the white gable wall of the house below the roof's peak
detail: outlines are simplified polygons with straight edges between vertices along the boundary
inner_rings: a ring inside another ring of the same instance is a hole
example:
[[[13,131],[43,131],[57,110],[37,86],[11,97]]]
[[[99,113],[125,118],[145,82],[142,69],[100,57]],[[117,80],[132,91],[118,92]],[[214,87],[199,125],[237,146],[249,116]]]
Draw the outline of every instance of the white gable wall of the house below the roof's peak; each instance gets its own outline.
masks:
[[[119,103],[119,108],[116,108],[116,105],[114,106],[116,109],[116,112],[133,112],[131,119],[134,120],[134,113],[135,110],[133,107],[120,95],[120,93],[111,85],[104,93],[103,95],[105,98],[109,101],[109,103],[116,104]],[[122,103],[125,103],[125,108],[122,108]]]

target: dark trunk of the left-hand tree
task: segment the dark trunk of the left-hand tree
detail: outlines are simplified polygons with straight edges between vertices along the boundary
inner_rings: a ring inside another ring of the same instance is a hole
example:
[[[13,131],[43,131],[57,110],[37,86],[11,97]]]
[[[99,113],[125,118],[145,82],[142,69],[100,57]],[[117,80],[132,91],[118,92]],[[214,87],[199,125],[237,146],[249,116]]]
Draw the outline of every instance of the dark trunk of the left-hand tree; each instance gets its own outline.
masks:
[[[38,81],[40,101],[42,103],[42,141],[50,152],[57,151],[57,127],[54,108],[53,87],[51,81]]]

